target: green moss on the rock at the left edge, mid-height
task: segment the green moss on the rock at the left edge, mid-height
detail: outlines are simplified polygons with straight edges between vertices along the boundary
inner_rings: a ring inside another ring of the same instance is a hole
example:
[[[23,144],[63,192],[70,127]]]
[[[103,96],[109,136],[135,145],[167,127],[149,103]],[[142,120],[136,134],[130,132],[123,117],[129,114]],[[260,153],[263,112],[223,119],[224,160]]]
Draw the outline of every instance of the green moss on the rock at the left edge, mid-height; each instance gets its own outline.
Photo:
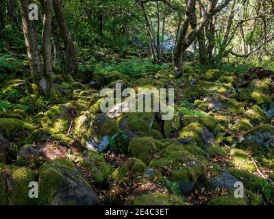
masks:
[[[24,130],[32,131],[34,126],[17,118],[0,118],[0,133],[8,140],[12,139],[13,133],[18,134]]]

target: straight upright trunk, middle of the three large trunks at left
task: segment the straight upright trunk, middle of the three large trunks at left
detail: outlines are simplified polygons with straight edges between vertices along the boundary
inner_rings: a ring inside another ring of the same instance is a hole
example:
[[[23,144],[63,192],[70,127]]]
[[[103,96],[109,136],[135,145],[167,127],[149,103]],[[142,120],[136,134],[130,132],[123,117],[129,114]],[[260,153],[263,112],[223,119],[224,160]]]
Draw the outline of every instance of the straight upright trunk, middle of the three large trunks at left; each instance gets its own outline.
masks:
[[[52,60],[51,60],[51,22],[52,22],[52,1],[44,0],[44,15],[42,28],[42,48],[44,59],[44,73],[48,79],[51,79]],[[52,81],[49,80],[50,86]]]

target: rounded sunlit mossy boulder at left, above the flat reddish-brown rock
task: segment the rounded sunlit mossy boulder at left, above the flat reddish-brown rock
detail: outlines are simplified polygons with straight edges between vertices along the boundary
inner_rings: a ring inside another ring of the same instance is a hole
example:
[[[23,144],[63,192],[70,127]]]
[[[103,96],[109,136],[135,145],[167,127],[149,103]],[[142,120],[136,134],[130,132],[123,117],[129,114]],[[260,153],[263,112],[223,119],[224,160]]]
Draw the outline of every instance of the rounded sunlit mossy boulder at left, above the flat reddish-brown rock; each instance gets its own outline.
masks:
[[[66,134],[69,131],[71,121],[74,118],[75,108],[71,103],[55,105],[45,113],[42,118],[42,127],[49,129],[51,133]]]

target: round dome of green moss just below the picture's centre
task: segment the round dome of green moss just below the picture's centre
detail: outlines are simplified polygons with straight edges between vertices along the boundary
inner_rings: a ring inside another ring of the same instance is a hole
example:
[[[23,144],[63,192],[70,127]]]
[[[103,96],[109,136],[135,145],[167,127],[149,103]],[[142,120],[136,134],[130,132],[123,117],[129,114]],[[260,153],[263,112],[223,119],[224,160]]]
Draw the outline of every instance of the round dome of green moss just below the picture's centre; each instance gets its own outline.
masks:
[[[128,147],[129,153],[145,164],[148,164],[149,158],[159,150],[156,140],[150,137],[133,138]]]

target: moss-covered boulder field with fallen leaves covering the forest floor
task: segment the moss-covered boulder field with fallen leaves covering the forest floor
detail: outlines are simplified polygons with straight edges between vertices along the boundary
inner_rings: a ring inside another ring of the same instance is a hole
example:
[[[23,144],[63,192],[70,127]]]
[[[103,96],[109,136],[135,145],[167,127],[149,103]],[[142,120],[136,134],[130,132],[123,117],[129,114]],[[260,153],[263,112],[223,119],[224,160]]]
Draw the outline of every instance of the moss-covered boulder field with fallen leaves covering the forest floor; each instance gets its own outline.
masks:
[[[47,103],[30,77],[16,78],[1,82],[0,205],[273,204],[269,70],[185,66],[178,78],[168,68],[136,79],[95,72],[89,83],[56,74]],[[99,91],[117,81],[175,88],[175,117],[101,114]],[[28,197],[30,181],[39,198]],[[237,181],[244,198],[234,197]]]

